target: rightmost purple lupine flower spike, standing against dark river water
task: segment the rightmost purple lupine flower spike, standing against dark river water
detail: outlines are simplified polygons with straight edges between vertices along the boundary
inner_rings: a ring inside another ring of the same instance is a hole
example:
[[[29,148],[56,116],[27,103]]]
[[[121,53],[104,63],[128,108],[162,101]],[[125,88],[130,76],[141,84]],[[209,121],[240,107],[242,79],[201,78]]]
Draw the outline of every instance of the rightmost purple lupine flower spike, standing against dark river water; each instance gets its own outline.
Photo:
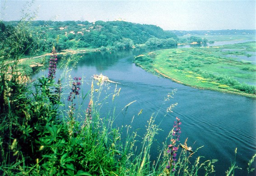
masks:
[[[170,158],[168,161],[168,165],[166,166],[166,168],[168,169],[168,172],[174,172],[175,171],[175,161],[177,160],[177,150],[178,148],[176,147],[176,142],[179,141],[180,139],[180,135],[178,135],[179,133],[181,133],[181,128],[180,125],[182,124],[180,122],[180,119],[177,119],[177,122],[174,121],[174,125],[173,125],[173,130],[172,130],[172,136],[175,136],[175,139],[171,139],[171,144],[168,145],[168,150],[167,153],[170,154]]]

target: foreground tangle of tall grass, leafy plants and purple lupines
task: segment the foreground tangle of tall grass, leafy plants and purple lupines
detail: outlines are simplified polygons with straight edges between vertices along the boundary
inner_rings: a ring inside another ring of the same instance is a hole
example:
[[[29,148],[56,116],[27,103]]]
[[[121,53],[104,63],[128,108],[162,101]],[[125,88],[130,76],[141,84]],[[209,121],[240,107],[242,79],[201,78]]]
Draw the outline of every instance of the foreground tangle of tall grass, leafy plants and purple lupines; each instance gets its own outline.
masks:
[[[159,124],[154,123],[156,116],[149,117],[143,136],[138,136],[131,125],[121,129],[114,125],[114,106],[107,115],[101,114],[104,102],[111,96],[114,101],[120,89],[116,87],[112,94],[103,95],[104,84],[99,82],[92,83],[87,94],[80,94],[83,79],[74,77],[70,79],[69,94],[64,94],[63,79],[55,75],[54,47],[49,75],[30,82],[26,73],[18,68],[23,50],[19,50],[15,40],[6,40],[9,43],[3,44],[0,50],[0,175],[194,176],[214,173],[216,160],[201,161],[202,157],[197,156],[192,163],[197,150],[191,153],[180,147],[180,119],[174,123],[158,159],[152,161],[151,146],[160,130]],[[13,50],[11,55],[5,50],[7,45]],[[252,171],[252,162],[248,172]]]

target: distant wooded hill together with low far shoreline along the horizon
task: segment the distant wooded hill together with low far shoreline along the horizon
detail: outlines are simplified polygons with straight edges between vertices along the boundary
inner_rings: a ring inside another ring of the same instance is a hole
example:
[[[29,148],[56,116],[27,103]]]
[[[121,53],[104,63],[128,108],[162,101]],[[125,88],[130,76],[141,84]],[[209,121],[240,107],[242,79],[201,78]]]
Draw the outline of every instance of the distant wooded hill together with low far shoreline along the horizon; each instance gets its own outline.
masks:
[[[0,39],[4,40],[13,34],[18,24],[19,21],[0,22]],[[36,48],[42,52],[51,52],[53,45],[58,51],[70,48],[104,50],[134,46],[170,47],[177,43],[208,42],[207,39],[196,35],[255,35],[256,33],[255,30],[164,31],[159,26],[124,21],[32,21],[27,25],[32,33],[28,36],[33,36],[29,40],[34,41]],[[178,38],[183,35],[191,37]]]

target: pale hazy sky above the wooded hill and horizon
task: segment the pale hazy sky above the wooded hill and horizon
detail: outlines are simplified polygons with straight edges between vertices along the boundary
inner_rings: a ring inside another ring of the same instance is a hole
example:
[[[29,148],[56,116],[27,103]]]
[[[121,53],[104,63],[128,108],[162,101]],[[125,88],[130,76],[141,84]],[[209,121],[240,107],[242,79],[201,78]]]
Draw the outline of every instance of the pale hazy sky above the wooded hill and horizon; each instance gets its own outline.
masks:
[[[256,0],[0,0],[0,20],[113,21],[154,24],[164,30],[256,29]],[[28,10],[29,9],[29,10]]]

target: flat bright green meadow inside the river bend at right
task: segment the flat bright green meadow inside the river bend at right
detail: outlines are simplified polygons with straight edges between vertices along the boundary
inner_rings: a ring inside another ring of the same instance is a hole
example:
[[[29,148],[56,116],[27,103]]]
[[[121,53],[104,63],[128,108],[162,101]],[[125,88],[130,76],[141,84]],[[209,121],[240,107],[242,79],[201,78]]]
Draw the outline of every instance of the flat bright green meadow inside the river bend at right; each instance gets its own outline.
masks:
[[[251,55],[255,42],[164,49],[135,57],[136,65],[191,87],[256,98],[256,66],[230,57]],[[228,55],[228,56],[227,56]]]

